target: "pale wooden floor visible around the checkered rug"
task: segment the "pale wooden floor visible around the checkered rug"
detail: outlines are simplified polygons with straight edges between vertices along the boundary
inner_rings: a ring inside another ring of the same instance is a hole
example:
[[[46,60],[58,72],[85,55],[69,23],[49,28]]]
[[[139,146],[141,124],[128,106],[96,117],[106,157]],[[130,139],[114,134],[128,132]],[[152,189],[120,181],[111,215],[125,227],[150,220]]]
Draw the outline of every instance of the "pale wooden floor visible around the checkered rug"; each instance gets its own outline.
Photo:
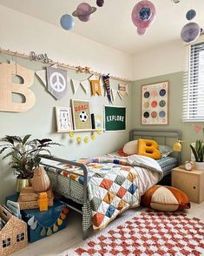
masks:
[[[186,211],[188,215],[204,220],[204,201],[201,204],[192,203],[191,206],[191,209]],[[124,212],[109,226],[120,223],[122,219],[126,219],[137,211],[141,211],[141,208]],[[63,231],[29,244],[23,250],[13,253],[12,256],[54,256],[80,242],[82,242],[82,215],[70,212],[68,226]]]

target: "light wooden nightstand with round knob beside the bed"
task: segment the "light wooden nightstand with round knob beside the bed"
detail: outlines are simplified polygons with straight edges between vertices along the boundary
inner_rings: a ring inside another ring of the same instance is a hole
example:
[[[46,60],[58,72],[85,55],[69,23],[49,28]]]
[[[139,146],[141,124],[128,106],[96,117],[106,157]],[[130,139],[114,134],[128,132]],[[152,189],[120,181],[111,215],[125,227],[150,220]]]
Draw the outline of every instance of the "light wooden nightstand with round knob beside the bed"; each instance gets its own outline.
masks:
[[[172,170],[172,186],[188,195],[190,201],[200,204],[204,200],[204,171]]]

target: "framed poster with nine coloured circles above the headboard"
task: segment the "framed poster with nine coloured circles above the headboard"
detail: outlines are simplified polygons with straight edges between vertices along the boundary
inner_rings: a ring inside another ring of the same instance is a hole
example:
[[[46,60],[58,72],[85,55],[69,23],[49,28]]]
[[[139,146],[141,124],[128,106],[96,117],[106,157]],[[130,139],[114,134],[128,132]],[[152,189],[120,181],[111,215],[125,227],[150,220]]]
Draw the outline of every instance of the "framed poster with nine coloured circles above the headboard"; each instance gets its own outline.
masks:
[[[141,125],[168,125],[168,81],[141,85]]]

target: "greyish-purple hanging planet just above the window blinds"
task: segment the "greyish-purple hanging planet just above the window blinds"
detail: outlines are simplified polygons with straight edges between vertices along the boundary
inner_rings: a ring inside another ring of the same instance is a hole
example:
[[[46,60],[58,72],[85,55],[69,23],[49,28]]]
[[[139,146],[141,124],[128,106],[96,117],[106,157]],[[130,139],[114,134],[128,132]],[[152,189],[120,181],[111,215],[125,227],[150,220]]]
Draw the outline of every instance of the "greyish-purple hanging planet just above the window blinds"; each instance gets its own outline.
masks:
[[[186,43],[194,42],[201,34],[199,24],[188,23],[181,30],[181,39]]]

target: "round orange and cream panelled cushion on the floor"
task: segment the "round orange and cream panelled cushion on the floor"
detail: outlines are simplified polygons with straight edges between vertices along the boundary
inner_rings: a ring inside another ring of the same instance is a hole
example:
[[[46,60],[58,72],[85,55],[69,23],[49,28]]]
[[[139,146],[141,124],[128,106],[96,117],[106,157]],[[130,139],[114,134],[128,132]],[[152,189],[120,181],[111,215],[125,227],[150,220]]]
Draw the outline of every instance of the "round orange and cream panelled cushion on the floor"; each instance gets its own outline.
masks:
[[[188,196],[172,186],[154,185],[141,197],[141,205],[163,212],[190,208]]]

